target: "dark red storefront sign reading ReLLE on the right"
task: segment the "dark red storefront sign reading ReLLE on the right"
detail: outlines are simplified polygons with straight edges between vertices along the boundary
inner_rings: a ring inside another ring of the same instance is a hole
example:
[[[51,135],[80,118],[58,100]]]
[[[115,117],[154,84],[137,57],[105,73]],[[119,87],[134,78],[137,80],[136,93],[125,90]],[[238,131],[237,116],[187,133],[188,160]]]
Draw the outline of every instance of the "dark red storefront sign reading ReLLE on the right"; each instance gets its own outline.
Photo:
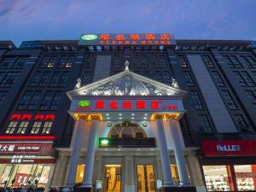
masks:
[[[256,155],[256,141],[204,141],[202,148],[206,157]]]

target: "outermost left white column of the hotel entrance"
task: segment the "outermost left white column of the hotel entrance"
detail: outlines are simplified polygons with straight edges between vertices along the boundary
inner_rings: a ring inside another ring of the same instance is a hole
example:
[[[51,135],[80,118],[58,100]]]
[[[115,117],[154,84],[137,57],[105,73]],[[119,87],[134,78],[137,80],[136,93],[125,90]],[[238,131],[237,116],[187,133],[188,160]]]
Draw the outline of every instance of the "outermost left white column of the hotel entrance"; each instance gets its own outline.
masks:
[[[84,135],[84,120],[75,121],[73,134],[75,134],[73,150],[70,156],[67,180],[65,182],[65,186],[67,187],[73,187],[75,184],[79,164],[80,150],[83,141],[82,139]]]

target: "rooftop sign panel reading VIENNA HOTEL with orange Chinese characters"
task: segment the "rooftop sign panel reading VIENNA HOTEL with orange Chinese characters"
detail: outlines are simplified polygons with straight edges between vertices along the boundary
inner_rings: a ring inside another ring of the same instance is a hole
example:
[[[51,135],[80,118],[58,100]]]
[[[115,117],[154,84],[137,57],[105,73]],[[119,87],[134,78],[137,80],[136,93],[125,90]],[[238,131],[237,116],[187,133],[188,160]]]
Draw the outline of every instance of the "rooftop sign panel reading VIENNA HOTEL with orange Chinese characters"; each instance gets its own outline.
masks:
[[[131,33],[131,34],[83,34],[79,45],[176,45],[172,34]]]

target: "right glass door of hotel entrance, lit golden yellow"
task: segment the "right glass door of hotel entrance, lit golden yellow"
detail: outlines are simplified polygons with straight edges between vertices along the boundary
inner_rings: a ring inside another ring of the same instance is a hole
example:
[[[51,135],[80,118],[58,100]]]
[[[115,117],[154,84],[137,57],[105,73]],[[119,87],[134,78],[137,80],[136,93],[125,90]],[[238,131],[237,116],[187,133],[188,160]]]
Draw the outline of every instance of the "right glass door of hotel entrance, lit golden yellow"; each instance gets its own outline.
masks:
[[[137,165],[137,191],[155,192],[153,165]]]

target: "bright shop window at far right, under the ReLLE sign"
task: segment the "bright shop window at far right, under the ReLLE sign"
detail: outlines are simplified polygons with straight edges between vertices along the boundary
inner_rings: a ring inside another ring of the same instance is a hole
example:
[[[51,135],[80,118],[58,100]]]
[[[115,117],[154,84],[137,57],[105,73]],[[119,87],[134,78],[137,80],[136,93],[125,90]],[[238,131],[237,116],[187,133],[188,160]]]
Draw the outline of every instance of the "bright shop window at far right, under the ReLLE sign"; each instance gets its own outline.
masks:
[[[256,165],[234,166],[234,169],[238,190],[256,189]]]

